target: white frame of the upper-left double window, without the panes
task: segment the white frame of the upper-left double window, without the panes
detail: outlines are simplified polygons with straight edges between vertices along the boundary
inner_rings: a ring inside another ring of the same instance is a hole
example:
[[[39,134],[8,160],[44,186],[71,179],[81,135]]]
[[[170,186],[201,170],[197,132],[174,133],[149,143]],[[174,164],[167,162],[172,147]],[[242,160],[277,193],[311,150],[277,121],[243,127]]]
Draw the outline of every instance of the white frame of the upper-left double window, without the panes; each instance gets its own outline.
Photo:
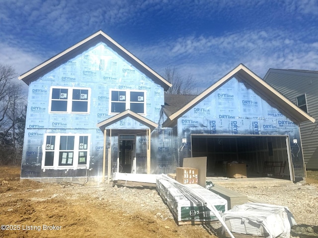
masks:
[[[68,98],[66,100],[63,99],[52,99],[53,89],[68,89]],[[73,100],[73,90],[87,90],[87,112],[72,112],[72,103],[73,101],[80,101],[80,100]],[[62,113],[62,114],[89,114],[90,111],[90,95],[91,89],[90,88],[82,88],[82,87],[63,87],[63,86],[52,86],[50,88],[50,99],[49,99],[49,113]],[[67,101],[67,111],[52,111],[52,100],[55,101]]]

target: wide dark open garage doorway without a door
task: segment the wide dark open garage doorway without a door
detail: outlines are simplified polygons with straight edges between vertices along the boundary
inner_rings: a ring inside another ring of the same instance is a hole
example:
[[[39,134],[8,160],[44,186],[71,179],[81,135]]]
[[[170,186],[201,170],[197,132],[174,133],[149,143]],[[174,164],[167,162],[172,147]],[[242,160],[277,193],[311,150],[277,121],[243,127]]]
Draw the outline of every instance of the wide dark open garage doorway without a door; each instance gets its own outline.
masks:
[[[293,180],[288,136],[192,134],[191,142],[192,157],[207,157],[207,177],[228,177],[228,163],[244,163],[247,178]]]

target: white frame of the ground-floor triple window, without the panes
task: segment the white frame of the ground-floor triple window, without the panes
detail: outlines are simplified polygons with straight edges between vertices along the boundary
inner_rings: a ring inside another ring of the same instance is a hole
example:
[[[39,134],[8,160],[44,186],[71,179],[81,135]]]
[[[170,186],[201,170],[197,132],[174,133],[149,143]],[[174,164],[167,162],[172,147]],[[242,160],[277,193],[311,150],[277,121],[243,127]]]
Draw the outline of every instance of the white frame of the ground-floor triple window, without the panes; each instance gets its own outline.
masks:
[[[46,140],[47,136],[55,136],[55,144],[47,145]],[[61,136],[74,136],[74,149],[73,149],[73,165],[59,165],[60,160],[60,152],[64,150],[60,150],[60,142]],[[87,145],[86,148],[79,149],[80,147],[80,136],[87,136]],[[54,170],[66,170],[66,169],[89,169],[89,162],[90,162],[90,134],[63,134],[63,133],[47,133],[44,135],[44,142],[42,146],[42,169],[54,169]],[[53,166],[45,166],[45,156],[46,152],[52,151],[54,152],[54,159],[53,159]],[[79,164],[79,156],[80,152],[86,152],[86,164],[80,165]]]

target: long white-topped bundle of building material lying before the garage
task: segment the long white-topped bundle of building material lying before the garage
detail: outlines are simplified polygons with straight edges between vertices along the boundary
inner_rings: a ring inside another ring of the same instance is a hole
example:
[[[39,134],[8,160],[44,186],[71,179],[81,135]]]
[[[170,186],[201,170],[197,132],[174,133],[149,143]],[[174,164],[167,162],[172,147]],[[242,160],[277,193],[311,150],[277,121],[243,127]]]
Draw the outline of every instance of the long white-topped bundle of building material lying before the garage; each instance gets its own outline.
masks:
[[[157,190],[178,225],[217,221],[214,212],[222,214],[228,210],[226,199],[198,184],[180,184],[173,179],[158,178]],[[211,211],[207,203],[213,205],[215,211]]]

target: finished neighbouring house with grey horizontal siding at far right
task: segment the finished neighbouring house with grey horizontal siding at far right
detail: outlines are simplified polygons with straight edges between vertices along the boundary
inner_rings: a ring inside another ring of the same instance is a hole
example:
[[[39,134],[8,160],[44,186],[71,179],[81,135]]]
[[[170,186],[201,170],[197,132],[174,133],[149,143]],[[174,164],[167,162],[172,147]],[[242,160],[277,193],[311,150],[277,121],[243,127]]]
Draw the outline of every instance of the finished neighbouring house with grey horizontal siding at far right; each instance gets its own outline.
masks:
[[[264,81],[298,107],[318,118],[318,71],[270,68]],[[318,169],[318,127],[310,121],[300,124],[307,169]]]

